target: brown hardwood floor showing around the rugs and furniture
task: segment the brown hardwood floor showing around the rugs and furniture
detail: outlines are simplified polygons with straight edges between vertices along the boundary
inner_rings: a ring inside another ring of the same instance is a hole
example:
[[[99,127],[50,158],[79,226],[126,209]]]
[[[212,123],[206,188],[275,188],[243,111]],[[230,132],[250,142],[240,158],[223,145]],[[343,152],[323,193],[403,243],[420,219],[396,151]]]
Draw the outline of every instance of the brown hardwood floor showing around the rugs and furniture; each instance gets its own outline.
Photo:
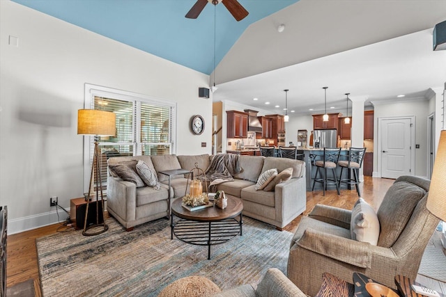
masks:
[[[364,183],[360,185],[362,198],[367,200],[375,209],[378,209],[383,200],[385,192],[394,182],[393,179],[380,179],[375,177],[364,177]],[[325,196],[322,191],[307,192],[307,210],[303,216],[307,215],[316,204],[327,204],[344,209],[352,209],[357,200],[355,190],[341,190],[341,195],[337,195],[336,190],[326,191]],[[295,232],[302,215],[295,218],[293,222],[284,229]],[[40,282],[37,264],[36,238],[57,232],[59,224],[41,227],[36,230],[22,232],[8,236],[8,276],[7,286],[32,279],[36,296],[40,294]],[[418,275],[417,281],[446,294],[446,283],[438,282],[423,275]]]

